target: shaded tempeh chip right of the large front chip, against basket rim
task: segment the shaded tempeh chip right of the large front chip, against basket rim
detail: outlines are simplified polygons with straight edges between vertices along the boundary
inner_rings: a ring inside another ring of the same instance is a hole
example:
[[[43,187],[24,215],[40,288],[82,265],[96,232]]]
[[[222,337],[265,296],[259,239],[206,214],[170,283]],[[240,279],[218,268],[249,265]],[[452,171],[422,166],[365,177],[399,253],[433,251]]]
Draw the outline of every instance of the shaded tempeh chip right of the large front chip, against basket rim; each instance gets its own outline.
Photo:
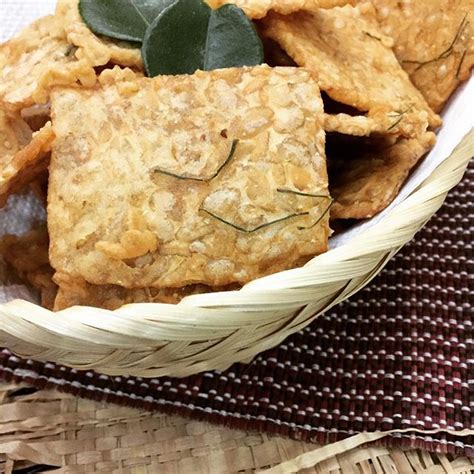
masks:
[[[400,138],[391,144],[362,144],[337,137],[339,145],[328,149],[330,191],[334,198],[332,219],[364,219],[385,209],[397,196],[410,170],[436,141],[425,133],[419,138]],[[329,139],[329,143],[331,139]],[[329,147],[330,148],[330,147]]]

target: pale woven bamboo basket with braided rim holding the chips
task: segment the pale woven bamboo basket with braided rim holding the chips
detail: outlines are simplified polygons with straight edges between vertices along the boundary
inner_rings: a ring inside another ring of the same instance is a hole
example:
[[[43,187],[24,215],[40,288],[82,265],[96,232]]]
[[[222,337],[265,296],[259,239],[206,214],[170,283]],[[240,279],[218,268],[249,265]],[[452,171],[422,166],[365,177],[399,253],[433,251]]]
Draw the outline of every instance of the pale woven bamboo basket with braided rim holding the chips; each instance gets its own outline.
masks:
[[[0,345],[21,357],[108,375],[182,377],[249,361],[363,288],[440,208],[473,155],[474,129],[383,219],[302,268],[178,305],[53,313],[15,300],[0,305]]]

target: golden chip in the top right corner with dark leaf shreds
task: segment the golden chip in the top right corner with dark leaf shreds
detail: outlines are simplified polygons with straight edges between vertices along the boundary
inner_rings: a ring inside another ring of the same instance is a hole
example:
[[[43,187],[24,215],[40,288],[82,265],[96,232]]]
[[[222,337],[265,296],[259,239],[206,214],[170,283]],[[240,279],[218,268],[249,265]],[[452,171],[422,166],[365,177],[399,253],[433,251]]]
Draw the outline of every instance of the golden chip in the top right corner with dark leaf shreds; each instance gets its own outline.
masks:
[[[382,31],[428,104],[442,110],[474,65],[473,0],[372,0]]]

